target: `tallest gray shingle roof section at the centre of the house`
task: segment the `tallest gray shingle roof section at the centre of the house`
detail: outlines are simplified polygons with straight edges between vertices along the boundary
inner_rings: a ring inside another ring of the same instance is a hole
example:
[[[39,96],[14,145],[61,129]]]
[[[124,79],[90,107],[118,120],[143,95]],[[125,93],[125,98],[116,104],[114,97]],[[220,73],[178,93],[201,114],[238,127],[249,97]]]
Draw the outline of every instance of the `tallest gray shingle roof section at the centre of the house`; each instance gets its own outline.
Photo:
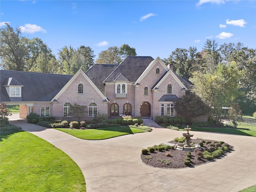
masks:
[[[153,60],[150,56],[127,56],[104,82],[114,82],[119,74],[130,82],[136,82]]]

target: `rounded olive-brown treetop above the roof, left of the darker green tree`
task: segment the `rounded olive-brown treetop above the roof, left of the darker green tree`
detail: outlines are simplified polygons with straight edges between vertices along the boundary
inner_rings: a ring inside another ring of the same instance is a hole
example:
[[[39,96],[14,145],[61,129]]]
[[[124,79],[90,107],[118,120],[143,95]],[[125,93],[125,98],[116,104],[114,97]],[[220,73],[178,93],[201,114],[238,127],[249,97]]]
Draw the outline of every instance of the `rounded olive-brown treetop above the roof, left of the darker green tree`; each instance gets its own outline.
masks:
[[[120,64],[122,62],[122,58],[119,48],[117,46],[113,46],[100,52],[98,59],[95,62],[98,64]]]

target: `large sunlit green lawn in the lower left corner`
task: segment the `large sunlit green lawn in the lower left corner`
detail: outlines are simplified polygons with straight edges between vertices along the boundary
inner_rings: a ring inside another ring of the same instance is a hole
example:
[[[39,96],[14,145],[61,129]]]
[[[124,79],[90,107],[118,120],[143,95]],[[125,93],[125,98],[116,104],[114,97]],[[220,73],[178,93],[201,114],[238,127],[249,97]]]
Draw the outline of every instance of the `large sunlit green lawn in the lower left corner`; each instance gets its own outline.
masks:
[[[0,192],[84,192],[84,176],[60,149],[24,131],[1,133]]]

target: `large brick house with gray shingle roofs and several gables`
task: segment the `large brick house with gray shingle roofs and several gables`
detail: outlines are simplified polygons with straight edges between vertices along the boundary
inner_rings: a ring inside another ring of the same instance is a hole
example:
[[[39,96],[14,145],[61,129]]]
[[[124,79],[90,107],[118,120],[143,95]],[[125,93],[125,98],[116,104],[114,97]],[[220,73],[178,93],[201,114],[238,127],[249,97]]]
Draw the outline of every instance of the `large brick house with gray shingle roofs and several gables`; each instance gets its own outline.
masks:
[[[192,84],[159,57],[150,56],[128,56],[121,64],[94,64],[74,76],[0,70],[0,80],[0,102],[19,104],[20,118],[34,112],[62,120],[75,119],[69,110],[74,103],[87,106],[83,120],[99,113],[108,118],[177,116],[174,102]]]

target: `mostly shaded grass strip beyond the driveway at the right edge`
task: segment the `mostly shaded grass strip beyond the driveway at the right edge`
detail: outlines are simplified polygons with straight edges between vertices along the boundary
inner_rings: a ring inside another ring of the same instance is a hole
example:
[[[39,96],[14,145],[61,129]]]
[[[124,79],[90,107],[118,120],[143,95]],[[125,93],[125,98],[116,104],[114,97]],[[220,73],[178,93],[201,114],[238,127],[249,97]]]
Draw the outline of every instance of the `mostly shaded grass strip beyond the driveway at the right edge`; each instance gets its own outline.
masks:
[[[230,124],[231,125],[231,124]],[[204,128],[204,127],[190,127],[191,131],[206,131],[206,132],[216,132],[216,133],[227,133],[227,134],[236,134],[236,135],[245,135],[245,136],[254,136],[256,137],[256,126],[247,125],[246,123],[238,123],[238,129],[235,128]],[[242,130],[239,128],[248,128],[250,130]],[[184,131],[184,127],[180,128]]]

